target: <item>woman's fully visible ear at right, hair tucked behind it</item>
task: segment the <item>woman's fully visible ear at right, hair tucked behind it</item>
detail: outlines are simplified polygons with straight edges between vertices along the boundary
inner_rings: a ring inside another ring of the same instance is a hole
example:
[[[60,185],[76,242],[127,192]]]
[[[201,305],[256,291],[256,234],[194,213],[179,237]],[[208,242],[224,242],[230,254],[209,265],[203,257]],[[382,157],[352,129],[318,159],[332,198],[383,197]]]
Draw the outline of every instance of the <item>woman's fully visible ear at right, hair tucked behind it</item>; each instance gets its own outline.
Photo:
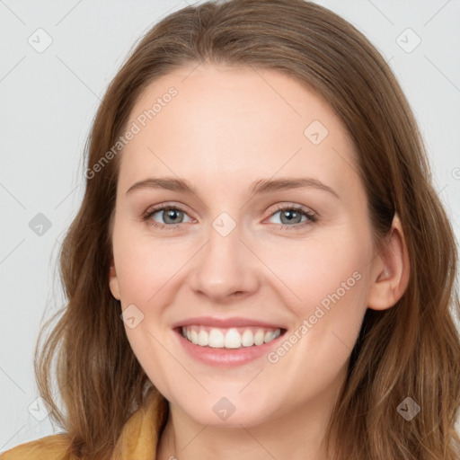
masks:
[[[372,310],[385,310],[394,306],[409,284],[409,252],[397,214],[394,215],[384,248],[373,261],[371,277],[367,307]]]

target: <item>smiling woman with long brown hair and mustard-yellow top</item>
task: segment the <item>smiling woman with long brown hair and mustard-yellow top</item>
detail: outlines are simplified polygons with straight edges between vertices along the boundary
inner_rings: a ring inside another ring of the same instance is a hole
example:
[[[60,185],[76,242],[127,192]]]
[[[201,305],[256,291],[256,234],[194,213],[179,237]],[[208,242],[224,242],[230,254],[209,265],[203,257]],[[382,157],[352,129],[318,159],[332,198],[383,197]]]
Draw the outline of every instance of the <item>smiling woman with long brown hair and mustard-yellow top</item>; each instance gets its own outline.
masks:
[[[65,434],[2,459],[458,458],[454,234],[348,22],[171,14],[112,81],[85,177],[36,367]]]

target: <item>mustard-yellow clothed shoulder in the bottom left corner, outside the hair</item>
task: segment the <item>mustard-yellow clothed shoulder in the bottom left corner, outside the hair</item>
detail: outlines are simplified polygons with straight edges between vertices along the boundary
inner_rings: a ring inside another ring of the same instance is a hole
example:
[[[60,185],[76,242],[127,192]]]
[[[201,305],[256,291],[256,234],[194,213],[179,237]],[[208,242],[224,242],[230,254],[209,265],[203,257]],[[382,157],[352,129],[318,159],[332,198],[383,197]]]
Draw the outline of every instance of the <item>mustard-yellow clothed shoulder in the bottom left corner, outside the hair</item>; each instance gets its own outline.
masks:
[[[49,460],[63,459],[71,441],[65,434],[46,436],[45,438],[20,444],[0,453],[0,460]],[[71,460],[72,456],[66,456]]]

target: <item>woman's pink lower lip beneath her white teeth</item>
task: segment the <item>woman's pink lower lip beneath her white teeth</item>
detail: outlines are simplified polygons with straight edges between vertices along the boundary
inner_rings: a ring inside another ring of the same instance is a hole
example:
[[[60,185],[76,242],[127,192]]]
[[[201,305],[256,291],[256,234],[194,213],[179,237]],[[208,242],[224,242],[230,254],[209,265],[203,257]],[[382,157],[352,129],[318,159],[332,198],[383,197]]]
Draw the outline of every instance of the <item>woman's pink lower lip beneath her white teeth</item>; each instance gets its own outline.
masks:
[[[190,354],[192,358],[207,364],[209,366],[220,366],[220,367],[235,367],[249,363],[254,359],[261,358],[267,355],[273,347],[277,346],[279,339],[283,337],[284,333],[281,333],[279,337],[273,341],[264,343],[263,345],[252,345],[251,347],[243,347],[241,349],[213,349],[211,347],[201,347],[195,345],[185,339],[185,337],[179,331],[175,331],[179,337],[181,346]]]

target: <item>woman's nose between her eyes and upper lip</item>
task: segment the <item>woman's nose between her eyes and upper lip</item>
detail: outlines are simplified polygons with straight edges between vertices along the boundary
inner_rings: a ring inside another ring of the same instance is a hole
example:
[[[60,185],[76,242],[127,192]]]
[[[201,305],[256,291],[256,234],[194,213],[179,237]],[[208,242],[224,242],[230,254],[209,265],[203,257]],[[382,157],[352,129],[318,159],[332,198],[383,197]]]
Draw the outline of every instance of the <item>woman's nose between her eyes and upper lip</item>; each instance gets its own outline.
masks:
[[[238,226],[226,236],[210,226],[208,242],[194,260],[190,286],[209,302],[234,302],[235,298],[243,299],[259,288],[261,262],[241,239]]]

